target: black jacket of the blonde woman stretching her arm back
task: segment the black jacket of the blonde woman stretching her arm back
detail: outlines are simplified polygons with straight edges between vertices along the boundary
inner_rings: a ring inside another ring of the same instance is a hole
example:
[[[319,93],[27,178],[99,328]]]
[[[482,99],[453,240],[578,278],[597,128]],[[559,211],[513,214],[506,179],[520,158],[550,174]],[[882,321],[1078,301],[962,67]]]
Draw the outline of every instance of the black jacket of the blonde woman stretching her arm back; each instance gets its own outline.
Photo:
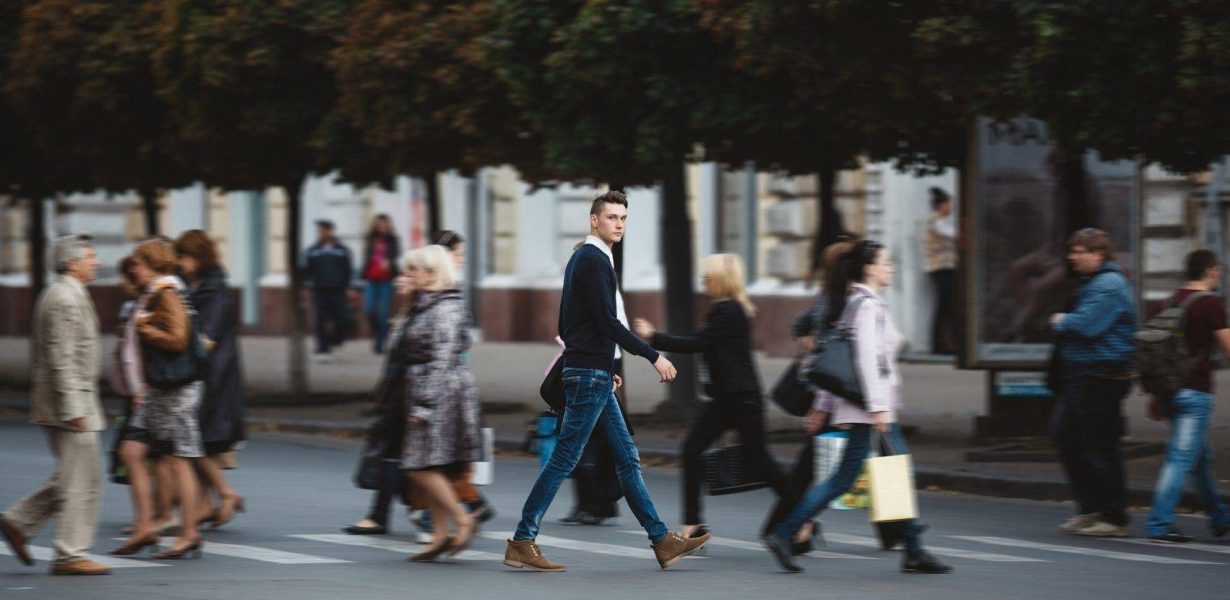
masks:
[[[705,392],[712,398],[760,395],[750,321],[739,302],[718,300],[710,306],[700,331],[688,336],[654,333],[651,343],[665,352],[704,353],[708,368]]]

